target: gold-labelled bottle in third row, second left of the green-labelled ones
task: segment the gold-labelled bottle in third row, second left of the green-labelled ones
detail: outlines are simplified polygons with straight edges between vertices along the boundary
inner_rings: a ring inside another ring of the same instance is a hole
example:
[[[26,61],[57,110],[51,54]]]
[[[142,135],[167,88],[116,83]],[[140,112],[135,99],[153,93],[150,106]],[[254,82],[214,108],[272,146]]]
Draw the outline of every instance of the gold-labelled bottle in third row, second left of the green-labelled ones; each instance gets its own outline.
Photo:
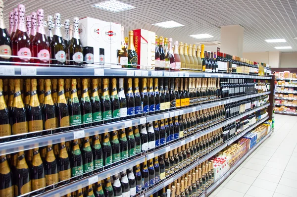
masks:
[[[45,174],[47,179],[47,186],[50,186],[50,189],[56,187],[56,183],[59,182],[59,175],[58,175],[58,168],[57,168],[57,161],[53,153],[52,145],[47,147],[47,156],[45,159]]]

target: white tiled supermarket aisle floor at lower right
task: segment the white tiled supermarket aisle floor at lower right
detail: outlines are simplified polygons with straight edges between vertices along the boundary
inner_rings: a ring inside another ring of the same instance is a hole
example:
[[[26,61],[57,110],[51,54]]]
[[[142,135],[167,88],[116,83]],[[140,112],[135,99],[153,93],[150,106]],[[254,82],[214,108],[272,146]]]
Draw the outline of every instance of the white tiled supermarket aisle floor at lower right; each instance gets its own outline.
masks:
[[[210,197],[297,197],[297,116],[275,115],[275,130]]]

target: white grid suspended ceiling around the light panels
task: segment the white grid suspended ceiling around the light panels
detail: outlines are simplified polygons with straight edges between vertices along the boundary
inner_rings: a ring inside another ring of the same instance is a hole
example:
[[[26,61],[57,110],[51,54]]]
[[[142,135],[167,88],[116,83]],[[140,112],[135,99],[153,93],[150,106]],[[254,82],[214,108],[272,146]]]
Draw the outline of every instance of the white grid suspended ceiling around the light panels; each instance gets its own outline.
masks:
[[[4,0],[4,16],[19,3],[26,15],[43,8],[46,15],[61,14],[61,21],[89,16],[120,23],[125,34],[132,29],[147,29],[158,36],[194,44],[220,41],[220,27],[239,24],[245,28],[244,52],[276,51],[276,46],[291,46],[283,52],[297,51],[297,0],[120,0],[136,8],[109,12],[92,5],[104,0]],[[45,17],[46,18],[46,17]],[[154,23],[173,20],[185,26],[163,29]],[[194,39],[193,34],[210,34],[209,39]],[[266,43],[265,39],[285,39],[287,43]]]

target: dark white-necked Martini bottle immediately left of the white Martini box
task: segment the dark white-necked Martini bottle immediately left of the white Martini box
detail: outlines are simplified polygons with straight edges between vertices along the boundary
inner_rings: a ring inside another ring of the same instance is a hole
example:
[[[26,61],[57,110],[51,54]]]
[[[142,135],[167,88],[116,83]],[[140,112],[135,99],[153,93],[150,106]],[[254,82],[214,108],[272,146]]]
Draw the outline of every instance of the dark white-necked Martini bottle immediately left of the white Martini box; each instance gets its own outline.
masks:
[[[70,51],[70,65],[81,66],[83,64],[83,46],[80,41],[79,33],[78,33],[78,17],[73,18],[73,26],[74,32],[73,37],[70,42],[69,51]]]

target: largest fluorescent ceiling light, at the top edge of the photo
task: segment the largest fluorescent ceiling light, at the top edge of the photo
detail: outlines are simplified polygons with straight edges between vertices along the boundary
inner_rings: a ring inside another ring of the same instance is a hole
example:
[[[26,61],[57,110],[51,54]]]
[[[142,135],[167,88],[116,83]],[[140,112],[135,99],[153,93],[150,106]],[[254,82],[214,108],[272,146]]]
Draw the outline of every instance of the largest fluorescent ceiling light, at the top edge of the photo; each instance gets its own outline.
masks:
[[[92,5],[93,7],[97,7],[103,10],[111,11],[111,12],[120,12],[128,9],[135,8],[132,5],[128,5],[126,3],[122,3],[117,0],[106,0],[104,2],[100,2],[98,4]]]

